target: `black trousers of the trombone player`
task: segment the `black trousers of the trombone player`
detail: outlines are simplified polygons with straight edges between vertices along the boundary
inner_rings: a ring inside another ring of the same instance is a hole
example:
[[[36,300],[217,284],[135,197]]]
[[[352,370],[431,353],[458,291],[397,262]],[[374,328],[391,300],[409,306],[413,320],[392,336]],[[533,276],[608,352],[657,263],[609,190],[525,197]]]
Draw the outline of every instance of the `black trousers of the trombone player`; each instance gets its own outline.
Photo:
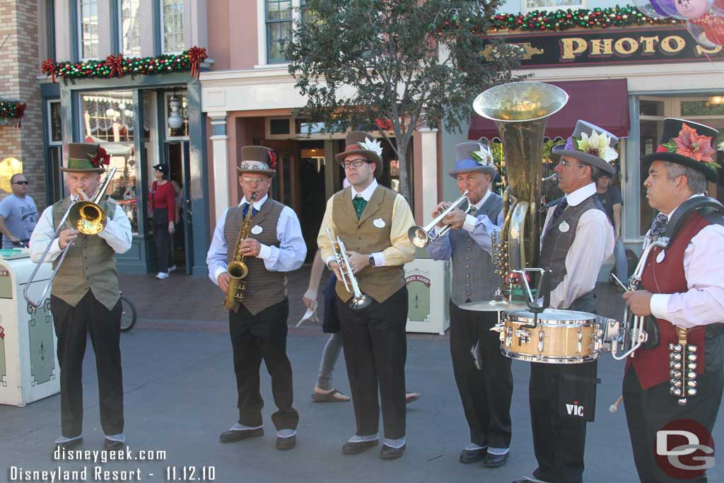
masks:
[[[63,436],[83,433],[83,356],[88,334],[96,354],[101,427],[105,434],[122,433],[121,302],[109,311],[88,290],[75,307],[51,295],[50,308],[58,337]]]

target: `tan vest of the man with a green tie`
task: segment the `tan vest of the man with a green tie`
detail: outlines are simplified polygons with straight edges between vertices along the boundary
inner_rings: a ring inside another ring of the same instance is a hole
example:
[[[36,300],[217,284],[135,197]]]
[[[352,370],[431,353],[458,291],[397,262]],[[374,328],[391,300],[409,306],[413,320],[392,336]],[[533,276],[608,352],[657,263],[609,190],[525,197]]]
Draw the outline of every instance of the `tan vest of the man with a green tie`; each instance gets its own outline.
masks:
[[[345,188],[334,195],[332,221],[347,251],[376,253],[392,245],[390,230],[396,197],[395,191],[378,186],[358,220],[352,204],[352,188]],[[382,219],[384,227],[376,227],[376,219]],[[355,277],[362,293],[370,295],[379,303],[386,301],[405,285],[405,270],[401,265],[368,266]],[[352,298],[341,280],[337,280],[337,295],[345,302]]]

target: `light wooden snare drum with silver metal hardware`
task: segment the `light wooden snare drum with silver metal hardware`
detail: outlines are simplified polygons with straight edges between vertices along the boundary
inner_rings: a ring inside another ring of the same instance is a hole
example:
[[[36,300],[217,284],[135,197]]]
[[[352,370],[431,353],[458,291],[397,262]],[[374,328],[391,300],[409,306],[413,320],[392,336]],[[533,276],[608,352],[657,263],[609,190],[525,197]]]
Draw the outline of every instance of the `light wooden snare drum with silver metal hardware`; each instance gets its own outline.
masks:
[[[588,312],[547,308],[538,315],[513,311],[502,314],[500,350],[503,356],[549,364],[580,364],[598,357],[598,317]]]

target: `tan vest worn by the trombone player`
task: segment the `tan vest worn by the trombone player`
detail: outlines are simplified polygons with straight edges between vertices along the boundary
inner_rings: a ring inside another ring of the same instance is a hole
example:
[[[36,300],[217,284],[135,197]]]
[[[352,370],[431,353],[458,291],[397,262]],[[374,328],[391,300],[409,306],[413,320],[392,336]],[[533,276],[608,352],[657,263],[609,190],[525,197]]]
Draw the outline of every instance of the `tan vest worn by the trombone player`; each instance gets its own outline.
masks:
[[[115,203],[105,200],[101,201],[100,205],[108,217],[113,216]],[[70,198],[53,205],[54,227],[58,226],[68,206]],[[54,269],[57,260],[53,262]],[[99,236],[78,235],[53,281],[51,295],[75,307],[88,290],[109,310],[116,305],[119,299],[116,253],[111,245]]]

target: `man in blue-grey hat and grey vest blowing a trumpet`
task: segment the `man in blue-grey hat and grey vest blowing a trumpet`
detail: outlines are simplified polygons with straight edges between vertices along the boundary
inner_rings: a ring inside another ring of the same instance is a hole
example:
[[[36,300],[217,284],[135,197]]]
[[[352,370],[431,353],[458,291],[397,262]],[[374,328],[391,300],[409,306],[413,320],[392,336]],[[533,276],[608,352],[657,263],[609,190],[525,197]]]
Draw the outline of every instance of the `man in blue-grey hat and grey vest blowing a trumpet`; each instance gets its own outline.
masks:
[[[450,355],[455,382],[470,429],[470,444],[460,453],[460,463],[484,459],[485,466],[502,466],[510,448],[510,398],[513,396],[511,359],[500,352],[500,337],[490,329],[497,312],[460,308],[463,303],[492,300],[500,285],[491,259],[491,236],[502,225],[502,198],[489,190],[496,174],[492,154],[480,143],[455,147],[455,169],[460,193],[467,191],[471,205],[450,211],[435,230],[447,225],[449,234],[436,236],[427,245],[433,260],[452,259],[450,291]],[[433,212],[439,217],[446,203]],[[479,344],[482,370],[476,369],[471,348]]]

